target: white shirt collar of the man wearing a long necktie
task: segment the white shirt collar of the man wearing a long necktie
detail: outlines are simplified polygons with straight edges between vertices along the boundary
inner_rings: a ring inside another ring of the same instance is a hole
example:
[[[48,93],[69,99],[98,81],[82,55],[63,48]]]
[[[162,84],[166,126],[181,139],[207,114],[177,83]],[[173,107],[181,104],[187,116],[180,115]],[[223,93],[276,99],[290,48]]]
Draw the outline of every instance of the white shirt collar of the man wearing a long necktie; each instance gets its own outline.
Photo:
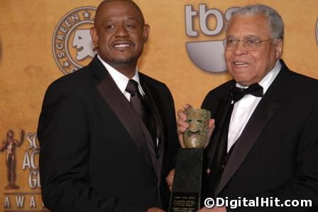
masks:
[[[111,78],[113,78],[113,80],[116,83],[119,90],[121,90],[122,93],[126,92],[125,90],[126,90],[129,78],[127,78],[126,75],[120,73],[119,70],[116,70],[111,65],[106,63],[98,54],[97,54],[97,58],[99,58],[101,63],[104,65],[104,67],[108,71],[109,75],[111,75]],[[141,95],[144,95],[145,92],[143,92],[143,88],[141,88],[141,83],[140,83],[140,78],[139,78],[139,73],[138,73],[137,67],[136,67],[135,75],[133,75],[133,78],[131,78],[131,79],[135,80],[138,83],[139,92],[141,92]]]

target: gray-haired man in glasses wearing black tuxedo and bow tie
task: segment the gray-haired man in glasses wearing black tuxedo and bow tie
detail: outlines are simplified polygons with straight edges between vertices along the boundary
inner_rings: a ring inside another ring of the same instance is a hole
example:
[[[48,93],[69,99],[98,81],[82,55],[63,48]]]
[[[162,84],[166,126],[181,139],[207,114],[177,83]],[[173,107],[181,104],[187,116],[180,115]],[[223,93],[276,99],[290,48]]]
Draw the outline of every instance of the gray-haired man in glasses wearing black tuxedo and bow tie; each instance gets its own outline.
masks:
[[[280,206],[304,199],[312,207],[275,207],[272,201],[273,207],[248,208],[241,202],[237,211],[317,211],[318,80],[292,72],[280,59],[283,34],[282,18],[264,5],[245,6],[228,23],[224,56],[234,80],[202,103],[213,118],[204,198],[269,197],[268,206],[270,197]],[[188,124],[182,110],[178,116],[181,135]]]

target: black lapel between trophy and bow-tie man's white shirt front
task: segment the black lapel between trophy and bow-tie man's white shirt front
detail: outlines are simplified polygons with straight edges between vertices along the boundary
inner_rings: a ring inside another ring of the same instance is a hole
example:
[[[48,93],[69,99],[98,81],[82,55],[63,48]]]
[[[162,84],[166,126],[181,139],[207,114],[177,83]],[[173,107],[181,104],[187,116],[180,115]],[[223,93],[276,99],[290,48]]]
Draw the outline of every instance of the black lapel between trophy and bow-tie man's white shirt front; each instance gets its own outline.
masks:
[[[221,128],[224,125],[226,115],[229,112],[231,104],[230,97],[224,97],[219,100],[219,104],[216,107],[214,119],[216,120],[216,128],[214,129],[213,136],[210,140],[209,147],[207,149],[207,168],[212,166],[212,160],[216,151],[217,144],[219,143],[219,138],[221,136]]]

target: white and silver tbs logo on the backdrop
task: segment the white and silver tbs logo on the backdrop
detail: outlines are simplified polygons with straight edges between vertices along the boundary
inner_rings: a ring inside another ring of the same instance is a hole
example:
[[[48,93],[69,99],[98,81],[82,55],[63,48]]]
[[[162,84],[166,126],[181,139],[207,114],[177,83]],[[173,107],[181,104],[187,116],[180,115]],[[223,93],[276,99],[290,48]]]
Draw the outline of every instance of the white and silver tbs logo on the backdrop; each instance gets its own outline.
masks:
[[[198,30],[194,26],[199,26],[199,29],[206,36],[216,36],[224,30],[224,19],[229,21],[234,11],[238,7],[227,9],[223,15],[218,9],[207,9],[205,4],[199,4],[199,11],[195,11],[192,5],[185,6],[185,31],[187,36],[195,38],[199,36]],[[199,18],[196,18],[196,17]],[[215,18],[215,28],[209,28],[208,23],[210,18]],[[194,24],[194,20],[199,21],[199,25]],[[192,62],[198,68],[212,73],[219,73],[226,70],[224,60],[223,41],[194,41],[186,43],[187,53]]]

